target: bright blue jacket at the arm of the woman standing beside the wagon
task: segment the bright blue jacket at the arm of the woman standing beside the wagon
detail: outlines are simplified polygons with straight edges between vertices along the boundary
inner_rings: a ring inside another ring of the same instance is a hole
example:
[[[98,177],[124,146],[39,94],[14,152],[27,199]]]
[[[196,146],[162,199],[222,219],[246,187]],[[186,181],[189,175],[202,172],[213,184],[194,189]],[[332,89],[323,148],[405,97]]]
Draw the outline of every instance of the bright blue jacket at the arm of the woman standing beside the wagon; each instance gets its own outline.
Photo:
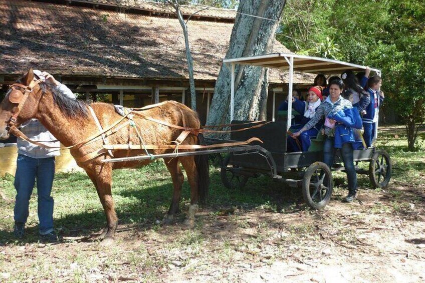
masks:
[[[338,123],[335,126],[335,148],[341,148],[344,143],[357,143],[353,145],[355,149],[358,148],[358,143],[361,144],[361,141],[356,139],[354,129],[362,128],[362,120],[358,109],[346,108],[340,110],[332,115],[329,115],[328,118],[332,118]]]

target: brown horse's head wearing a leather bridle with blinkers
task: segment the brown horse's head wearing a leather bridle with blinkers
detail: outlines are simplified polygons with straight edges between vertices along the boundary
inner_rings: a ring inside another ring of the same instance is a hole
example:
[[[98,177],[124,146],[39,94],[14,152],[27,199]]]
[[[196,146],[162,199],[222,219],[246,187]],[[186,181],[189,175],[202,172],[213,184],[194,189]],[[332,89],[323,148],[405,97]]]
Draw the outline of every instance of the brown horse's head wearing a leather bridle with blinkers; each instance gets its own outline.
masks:
[[[11,85],[0,104],[0,139],[9,138],[11,126],[19,127],[34,118],[42,95],[40,80],[34,80],[33,69]]]

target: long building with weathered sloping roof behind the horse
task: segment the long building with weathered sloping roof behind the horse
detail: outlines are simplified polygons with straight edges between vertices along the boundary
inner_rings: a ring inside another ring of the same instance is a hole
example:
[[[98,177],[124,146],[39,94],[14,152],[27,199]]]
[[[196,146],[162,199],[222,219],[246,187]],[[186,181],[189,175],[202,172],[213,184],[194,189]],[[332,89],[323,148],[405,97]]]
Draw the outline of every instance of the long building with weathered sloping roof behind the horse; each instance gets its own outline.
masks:
[[[186,19],[192,15],[189,41],[197,111],[204,123],[236,11],[198,10],[182,7]],[[126,107],[164,100],[190,105],[182,29],[167,6],[140,0],[0,0],[0,14],[0,91],[32,67],[53,74],[87,99],[102,97]],[[274,51],[289,52],[277,41]],[[295,76],[304,88],[312,80]],[[287,74],[270,71],[270,93],[277,102],[286,97],[287,81]],[[8,164],[16,160],[7,155]]]

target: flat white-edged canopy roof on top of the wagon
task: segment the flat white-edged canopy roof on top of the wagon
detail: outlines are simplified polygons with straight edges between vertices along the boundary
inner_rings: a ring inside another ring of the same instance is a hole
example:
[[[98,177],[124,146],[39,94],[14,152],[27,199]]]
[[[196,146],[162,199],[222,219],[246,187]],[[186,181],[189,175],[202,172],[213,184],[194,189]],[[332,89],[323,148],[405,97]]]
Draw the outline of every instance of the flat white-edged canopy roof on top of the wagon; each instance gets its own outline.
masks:
[[[289,59],[291,57],[294,58],[294,71],[301,73],[331,75],[341,74],[343,71],[347,70],[363,71],[366,69],[366,66],[290,53],[273,53],[261,56],[227,59],[223,62],[289,70]],[[380,72],[378,69],[370,69],[374,72]]]

